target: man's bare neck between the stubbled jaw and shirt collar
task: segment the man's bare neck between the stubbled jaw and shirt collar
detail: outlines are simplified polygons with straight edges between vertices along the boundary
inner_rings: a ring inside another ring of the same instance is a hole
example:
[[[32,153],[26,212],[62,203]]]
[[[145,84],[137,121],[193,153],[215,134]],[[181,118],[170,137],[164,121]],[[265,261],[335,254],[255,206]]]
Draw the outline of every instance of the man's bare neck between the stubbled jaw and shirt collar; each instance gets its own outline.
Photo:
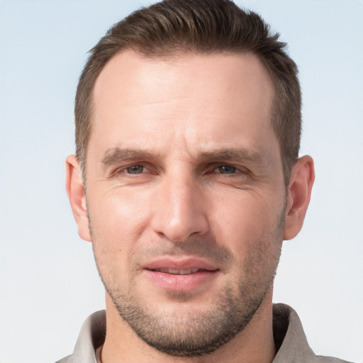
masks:
[[[108,294],[106,321],[102,363],[271,363],[276,354],[272,331],[272,286],[245,330],[206,356],[174,357],[150,347],[121,318]]]

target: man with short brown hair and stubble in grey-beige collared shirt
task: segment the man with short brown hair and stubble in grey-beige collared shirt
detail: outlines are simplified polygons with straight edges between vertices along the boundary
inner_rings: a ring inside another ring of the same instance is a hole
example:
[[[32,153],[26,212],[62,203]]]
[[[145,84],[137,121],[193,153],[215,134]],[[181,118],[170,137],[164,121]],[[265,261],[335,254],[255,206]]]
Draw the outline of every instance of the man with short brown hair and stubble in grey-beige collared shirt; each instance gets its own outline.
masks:
[[[296,74],[278,35],[228,0],[163,1],[100,40],[67,193],[106,312],[60,362],[342,362],[272,306],[314,179]]]

